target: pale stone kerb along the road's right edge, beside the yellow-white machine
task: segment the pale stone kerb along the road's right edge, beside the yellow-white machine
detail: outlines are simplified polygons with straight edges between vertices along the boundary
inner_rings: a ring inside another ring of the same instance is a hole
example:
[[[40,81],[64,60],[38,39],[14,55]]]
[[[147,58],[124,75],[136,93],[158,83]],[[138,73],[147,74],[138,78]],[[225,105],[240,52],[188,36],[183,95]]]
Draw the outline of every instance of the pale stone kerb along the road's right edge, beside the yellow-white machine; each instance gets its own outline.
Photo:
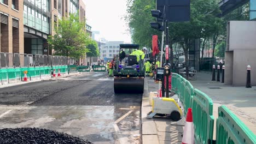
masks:
[[[148,80],[144,79],[144,93],[141,104],[141,125],[142,125],[142,143],[158,144],[158,131],[153,119],[147,118],[147,113],[151,111],[149,105]]]

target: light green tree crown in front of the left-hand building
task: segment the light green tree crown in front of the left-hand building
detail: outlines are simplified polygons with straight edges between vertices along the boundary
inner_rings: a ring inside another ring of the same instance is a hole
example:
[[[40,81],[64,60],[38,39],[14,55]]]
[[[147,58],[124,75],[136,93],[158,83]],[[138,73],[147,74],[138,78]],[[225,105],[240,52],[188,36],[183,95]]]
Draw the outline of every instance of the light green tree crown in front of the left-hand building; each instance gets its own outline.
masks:
[[[86,43],[90,37],[83,31],[85,22],[79,21],[77,14],[70,14],[69,17],[62,17],[59,26],[55,27],[55,35],[48,37],[48,43],[56,51],[55,55],[75,57],[84,56],[88,49]]]

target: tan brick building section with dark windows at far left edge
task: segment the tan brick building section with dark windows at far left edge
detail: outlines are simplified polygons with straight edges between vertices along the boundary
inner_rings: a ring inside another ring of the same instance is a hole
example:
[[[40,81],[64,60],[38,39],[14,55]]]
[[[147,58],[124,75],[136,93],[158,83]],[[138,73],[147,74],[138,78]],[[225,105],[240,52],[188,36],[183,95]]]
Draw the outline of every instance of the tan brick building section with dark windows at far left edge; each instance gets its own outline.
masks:
[[[24,53],[23,1],[0,0],[0,52]]]

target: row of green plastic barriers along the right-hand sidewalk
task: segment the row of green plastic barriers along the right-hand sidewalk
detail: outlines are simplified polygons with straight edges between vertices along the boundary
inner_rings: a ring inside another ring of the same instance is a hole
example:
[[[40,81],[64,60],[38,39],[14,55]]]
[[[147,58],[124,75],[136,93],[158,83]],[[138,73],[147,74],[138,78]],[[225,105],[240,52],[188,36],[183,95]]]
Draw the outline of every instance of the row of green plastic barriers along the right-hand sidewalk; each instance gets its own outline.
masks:
[[[195,143],[214,143],[212,99],[199,89],[194,89],[189,81],[175,73],[172,73],[172,91],[178,94],[185,115],[189,107],[193,110]],[[256,136],[234,113],[225,106],[220,106],[218,109],[217,143],[256,143]]]

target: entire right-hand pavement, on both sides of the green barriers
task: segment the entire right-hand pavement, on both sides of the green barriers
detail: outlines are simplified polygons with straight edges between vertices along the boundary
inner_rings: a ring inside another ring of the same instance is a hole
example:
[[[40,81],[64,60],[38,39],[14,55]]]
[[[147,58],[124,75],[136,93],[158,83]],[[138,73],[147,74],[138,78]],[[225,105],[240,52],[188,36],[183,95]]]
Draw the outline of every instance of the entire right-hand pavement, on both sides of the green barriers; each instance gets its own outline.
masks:
[[[190,82],[194,88],[206,93],[213,100],[214,140],[216,139],[216,118],[220,105],[226,105],[256,134],[256,87],[232,87],[211,81],[209,72],[197,73],[197,79],[190,80]],[[184,118],[177,124],[173,124],[174,122],[170,118],[165,117],[147,119],[147,113],[152,110],[152,106],[149,105],[149,92],[157,91],[158,87],[153,79],[146,77],[141,109],[142,143],[181,143]]]

